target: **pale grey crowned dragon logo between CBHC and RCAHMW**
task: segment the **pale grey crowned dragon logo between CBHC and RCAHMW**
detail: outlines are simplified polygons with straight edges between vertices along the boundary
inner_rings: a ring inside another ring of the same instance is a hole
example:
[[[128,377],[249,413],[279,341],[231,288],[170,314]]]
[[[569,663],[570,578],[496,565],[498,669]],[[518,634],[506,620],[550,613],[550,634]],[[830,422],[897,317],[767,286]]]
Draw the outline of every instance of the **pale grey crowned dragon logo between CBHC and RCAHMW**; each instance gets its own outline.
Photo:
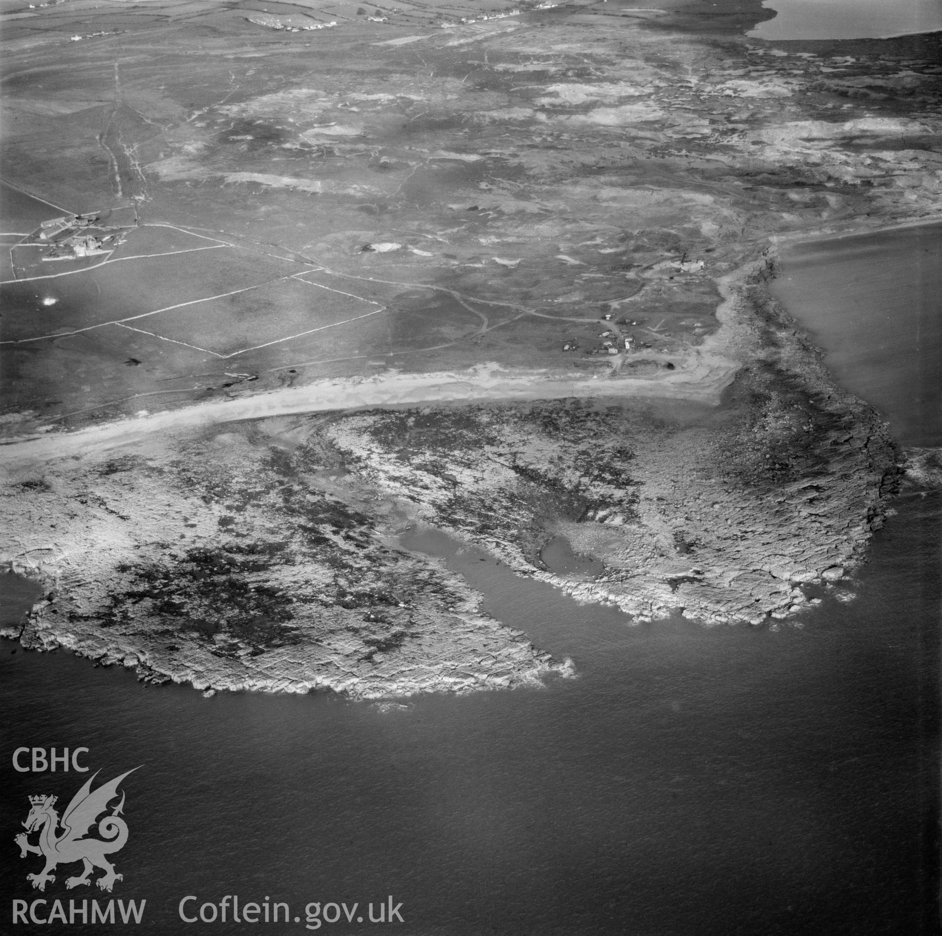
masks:
[[[135,767],[134,770],[137,770]],[[33,887],[38,887],[41,891],[46,889],[48,881],[56,880],[55,875],[50,874],[57,864],[69,864],[72,862],[84,862],[85,870],[74,878],[66,879],[65,886],[73,888],[79,884],[89,884],[89,875],[94,867],[100,867],[105,871],[105,875],[99,878],[96,883],[103,891],[109,891],[114,886],[116,880],[123,880],[123,875],[116,874],[114,865],[107,861],[106,855],[120,850],[127,841],[127,823],[118,815],[124,806],[124,794],[122,793],[121,802],[112,810],[111,815],[106,815],[98,823],[98,834],[106,839],[103,842],[97,838],[84,838],[89,831],[89,826],[95,819],[105,812],[108,803],[118,796],[118,784],[134,770],[128,770],[122,773],[120,777],[115,777],[110,783],[104,783],[99,786],[94,793],[91,792],[91,782],[98,776],[98,772],[89,777],[89,780],[76,793],[72,802],[69,803],[65,814],[62,816],[62,831],[57,834],[57,825],[59,824],[58,813],[53,806],[56,804],[57,797],[37,796],[30,797],[29,815],[23,823],[25,832],[20,832],[14,838],[16,844],[20,847],[20,857],[25,858],[27,852],[36,855],[44,855],[46,866],[40,874],[27,874],[26,880],[32,881]],[[30,845],[28,835],[40,829],[40,844]]]

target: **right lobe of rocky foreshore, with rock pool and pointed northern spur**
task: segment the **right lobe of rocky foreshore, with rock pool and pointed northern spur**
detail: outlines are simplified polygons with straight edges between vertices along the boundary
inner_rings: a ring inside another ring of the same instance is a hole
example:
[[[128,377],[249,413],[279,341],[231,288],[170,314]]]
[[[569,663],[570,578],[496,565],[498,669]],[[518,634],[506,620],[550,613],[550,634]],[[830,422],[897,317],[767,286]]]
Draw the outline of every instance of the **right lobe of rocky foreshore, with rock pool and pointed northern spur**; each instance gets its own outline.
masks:
[[[896,491],[877,414],[842,393],[764,288],[774,256],[725,282],[715,340],[739,359],[723,405],[553,401],[365,413],[327,428],[346,463],[414,516],[520,573],[650,621],[758,623],[861,561]],[[587,580],[540,559],[564,536]]]

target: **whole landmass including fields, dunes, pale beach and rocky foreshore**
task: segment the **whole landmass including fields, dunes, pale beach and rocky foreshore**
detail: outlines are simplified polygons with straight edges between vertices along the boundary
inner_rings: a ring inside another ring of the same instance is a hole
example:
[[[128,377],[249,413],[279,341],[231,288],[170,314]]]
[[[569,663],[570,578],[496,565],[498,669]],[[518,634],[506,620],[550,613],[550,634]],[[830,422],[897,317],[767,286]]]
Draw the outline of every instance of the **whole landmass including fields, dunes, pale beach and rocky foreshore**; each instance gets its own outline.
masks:
[[[2,9],[24,643],[366,695],[568,672],[412,523],[636,619],[850,596],[901,454],[765,284],[785,239],[940,217],[939,35],[773,45],[758,0]]]

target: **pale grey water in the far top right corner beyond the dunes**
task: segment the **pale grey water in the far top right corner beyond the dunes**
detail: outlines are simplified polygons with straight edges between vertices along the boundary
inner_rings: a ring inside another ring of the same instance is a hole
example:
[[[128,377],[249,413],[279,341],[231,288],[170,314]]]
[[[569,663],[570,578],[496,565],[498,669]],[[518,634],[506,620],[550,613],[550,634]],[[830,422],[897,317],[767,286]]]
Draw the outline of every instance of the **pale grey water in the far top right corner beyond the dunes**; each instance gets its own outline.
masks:
[[[885,39],[942,29],[939,0],[765,0],[776,16],[749,36],[791,39]]]

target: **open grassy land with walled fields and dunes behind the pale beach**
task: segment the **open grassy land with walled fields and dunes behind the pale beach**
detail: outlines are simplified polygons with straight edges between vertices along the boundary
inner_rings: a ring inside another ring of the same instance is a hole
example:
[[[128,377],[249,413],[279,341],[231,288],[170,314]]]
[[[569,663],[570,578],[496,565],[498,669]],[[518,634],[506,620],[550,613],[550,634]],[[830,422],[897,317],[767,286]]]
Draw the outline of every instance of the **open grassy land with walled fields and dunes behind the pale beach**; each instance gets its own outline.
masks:
[[[5,426],[391,368],[655,379],[770,235],[937,213],[937,40],[772,48],[757,4],[702,8],[8,5]],[[106,256],[13,246],[122,207]]]

